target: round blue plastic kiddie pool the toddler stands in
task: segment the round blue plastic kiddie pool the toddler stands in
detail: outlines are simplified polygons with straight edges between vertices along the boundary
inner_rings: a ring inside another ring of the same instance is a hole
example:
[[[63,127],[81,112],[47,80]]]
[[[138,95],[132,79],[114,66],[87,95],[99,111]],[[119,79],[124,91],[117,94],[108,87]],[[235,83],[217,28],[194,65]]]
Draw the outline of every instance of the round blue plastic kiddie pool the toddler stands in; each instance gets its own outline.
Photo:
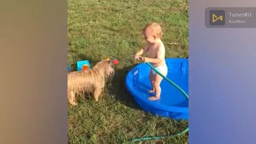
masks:
[[[177,84],[183,92],[188,93],[188,59],[165,59],[168,67],[167,78]],[[133,95],[138,105],[146,112],[170,117],[173,119],[188,119],[188,99],[184,94],[163,79],[161,83],[161,99],[150,101],[149,97],[155,93],[148,93],[151,89],[149,81],[150,67],[146,63],[134,67],[126,76],[126,88]]]

